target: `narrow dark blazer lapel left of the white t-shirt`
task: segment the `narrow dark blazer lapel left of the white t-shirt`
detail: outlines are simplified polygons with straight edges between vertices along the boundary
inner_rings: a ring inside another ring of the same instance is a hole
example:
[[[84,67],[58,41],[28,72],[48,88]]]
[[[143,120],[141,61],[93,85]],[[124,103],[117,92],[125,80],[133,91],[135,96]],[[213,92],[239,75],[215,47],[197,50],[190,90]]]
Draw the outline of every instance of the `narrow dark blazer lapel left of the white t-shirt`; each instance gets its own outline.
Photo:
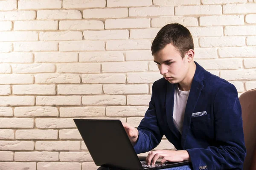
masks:
[[[175,134],[177,139],[181,138],[180,132],[177,130],[174,122],[173,122],[173,105],[174,105],[174,91],[175,91],[175,85],[166,82],[166,117],[167,117],[167,123],[169,126],[169,129],[172,131],[172,133]]]

